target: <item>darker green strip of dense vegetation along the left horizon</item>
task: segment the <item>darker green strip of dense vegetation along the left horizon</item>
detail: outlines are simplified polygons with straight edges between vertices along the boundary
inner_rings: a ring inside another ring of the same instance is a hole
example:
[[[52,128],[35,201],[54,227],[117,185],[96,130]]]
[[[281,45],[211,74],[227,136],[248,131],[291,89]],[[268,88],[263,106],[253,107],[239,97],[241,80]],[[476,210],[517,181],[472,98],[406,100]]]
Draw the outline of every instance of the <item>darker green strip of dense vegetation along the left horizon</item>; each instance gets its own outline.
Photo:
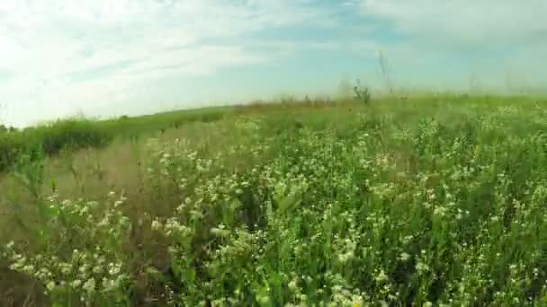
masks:
[[[222,118],[224,110],[193,110],[153,116],[93,121],[81,118],[64,119],[22,130],[0,126],[0,172],[13,169],[23,155],[40,151],[48,155],[64,150],[103,147],[115,137],[135,138],[153,131],[181,127],[193,121],[209,122]],[[9,133],[8,133],[9,132]]]

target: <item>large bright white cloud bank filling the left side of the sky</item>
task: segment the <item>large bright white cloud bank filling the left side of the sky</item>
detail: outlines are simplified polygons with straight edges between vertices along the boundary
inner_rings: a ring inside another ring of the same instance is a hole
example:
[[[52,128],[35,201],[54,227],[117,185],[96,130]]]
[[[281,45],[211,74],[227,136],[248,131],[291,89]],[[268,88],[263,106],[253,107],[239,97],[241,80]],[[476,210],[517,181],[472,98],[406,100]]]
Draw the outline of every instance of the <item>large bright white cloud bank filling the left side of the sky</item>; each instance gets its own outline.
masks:
[[[327,14],[307,0],[0,0],[0,99],[16,124],[105,105],[168,75],[271,59],[282,46],[242,38],[332,25]]]

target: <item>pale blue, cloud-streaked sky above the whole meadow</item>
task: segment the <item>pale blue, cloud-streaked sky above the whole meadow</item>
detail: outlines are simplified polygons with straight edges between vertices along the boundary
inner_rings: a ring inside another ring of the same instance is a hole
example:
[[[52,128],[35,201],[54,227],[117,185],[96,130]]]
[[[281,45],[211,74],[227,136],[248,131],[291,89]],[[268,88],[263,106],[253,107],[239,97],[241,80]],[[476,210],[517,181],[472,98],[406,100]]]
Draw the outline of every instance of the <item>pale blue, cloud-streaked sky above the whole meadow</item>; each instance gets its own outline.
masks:
[[[547,85],[544,0],[0,0],[0,122]]]

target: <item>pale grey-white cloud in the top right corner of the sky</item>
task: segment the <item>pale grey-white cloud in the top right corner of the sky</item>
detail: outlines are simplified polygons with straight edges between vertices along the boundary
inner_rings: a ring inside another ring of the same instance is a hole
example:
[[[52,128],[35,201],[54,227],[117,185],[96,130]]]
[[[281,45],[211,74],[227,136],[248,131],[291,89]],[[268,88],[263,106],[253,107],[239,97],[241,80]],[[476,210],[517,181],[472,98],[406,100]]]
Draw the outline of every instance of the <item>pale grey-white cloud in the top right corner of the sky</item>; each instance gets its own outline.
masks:
[[[360,0],[364,14],[415,38],[444,44],[511,44],[547,39],[544,0]]]

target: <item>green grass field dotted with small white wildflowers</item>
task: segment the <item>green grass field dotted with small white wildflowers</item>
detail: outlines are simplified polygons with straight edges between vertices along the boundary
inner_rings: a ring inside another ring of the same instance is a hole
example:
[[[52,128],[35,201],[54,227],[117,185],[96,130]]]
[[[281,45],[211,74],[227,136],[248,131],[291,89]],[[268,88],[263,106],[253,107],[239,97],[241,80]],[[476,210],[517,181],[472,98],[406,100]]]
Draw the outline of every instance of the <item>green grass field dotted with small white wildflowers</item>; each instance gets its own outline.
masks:
[[[0,136],[1,306],[547,305],[547,101],[62,125]]]

